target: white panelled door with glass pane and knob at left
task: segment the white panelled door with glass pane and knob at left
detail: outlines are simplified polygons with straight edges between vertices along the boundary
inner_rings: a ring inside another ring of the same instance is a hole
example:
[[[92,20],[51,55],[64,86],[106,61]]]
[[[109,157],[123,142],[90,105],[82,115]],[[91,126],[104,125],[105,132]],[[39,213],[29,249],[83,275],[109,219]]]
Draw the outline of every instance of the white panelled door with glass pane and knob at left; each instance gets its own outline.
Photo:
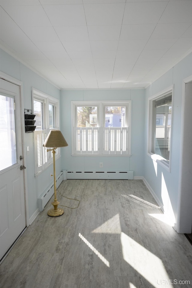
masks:
[[[20,86],[0,78],[0,259],[26,227],[22,155]]]

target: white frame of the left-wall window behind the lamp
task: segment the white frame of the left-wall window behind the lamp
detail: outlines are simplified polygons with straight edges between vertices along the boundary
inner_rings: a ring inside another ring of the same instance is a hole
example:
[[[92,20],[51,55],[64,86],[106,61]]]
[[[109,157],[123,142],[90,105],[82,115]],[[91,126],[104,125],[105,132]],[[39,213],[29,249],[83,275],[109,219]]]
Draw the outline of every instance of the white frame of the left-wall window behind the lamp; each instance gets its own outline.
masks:
[[[43,128],[41,130],[35,130],[34,131],[34,152],[35,152],[35,176],[38,176],[38,174],[42,173],[47,167],[49,167],[52,164],[53,157],[52,152],[46,151],[46,148],[43,146],[41,147],[41,159],[46,158],[45,162],[42,162],[42,165],[38,166],[38,144],[37,139],[39,139],[40,143],[43,144],[44,140],[46,139],[46,136],[49,134],[50,130],[56,130],[59,129],[59,111],[58,111],[58,105],[59,100],[57,98],[54,98],[42,91],[39,91],[32,87],[32,111],[34,113],[34,100],[42,102],[43,103]],[[54,106],[54,128],[49,128],[49,104]],[[60,149],[57,148],[55,159],[57,159],[60,156]]]

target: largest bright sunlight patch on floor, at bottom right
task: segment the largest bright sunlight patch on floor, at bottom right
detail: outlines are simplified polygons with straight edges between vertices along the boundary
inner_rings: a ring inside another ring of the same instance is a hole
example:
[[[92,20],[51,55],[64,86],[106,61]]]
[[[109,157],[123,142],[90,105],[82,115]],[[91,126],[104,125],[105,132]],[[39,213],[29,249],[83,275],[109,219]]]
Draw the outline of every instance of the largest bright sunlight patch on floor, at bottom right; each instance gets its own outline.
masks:
[[[161,259],[123,232],[121,233],[121,244],[124,260],[155,288],[159,288],[158,281],[162,279],[169,281],[170,277]],[[173,286],[167,284],[166,287]]]

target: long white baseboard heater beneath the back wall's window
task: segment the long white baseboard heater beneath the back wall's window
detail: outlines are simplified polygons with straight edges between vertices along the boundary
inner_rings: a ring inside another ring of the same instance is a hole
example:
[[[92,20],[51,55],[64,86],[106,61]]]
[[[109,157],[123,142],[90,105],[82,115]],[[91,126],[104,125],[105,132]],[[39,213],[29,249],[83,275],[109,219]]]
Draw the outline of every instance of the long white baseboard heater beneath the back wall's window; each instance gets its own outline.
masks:
[[[74,171],[67,170],[67,179],[127,179],[133,180],[133,171]]]

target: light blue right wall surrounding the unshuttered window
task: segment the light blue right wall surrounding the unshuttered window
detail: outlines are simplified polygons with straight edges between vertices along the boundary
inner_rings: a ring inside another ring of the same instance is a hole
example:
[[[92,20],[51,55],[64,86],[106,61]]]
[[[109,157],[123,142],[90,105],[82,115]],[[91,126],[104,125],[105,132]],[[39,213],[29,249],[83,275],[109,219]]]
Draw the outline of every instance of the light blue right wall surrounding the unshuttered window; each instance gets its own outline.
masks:
[[[145,133],[145,164],[144,177],[168,214],[177,219],[179,193],[179,161],[181,143],[181,112],[182,112],[182,85],[183,79],[192,75],[192,54],[185,57],[157,81],[146,88],[145,110],[148,110],[148,98],[174,85],[173,91],[173,126],[171,146],[171,172],[168,172],[147,155],[147,133]],[[145,117],[145,130],[148,128],[148,115]],[[176,221],[176,220],[175,220]]]

